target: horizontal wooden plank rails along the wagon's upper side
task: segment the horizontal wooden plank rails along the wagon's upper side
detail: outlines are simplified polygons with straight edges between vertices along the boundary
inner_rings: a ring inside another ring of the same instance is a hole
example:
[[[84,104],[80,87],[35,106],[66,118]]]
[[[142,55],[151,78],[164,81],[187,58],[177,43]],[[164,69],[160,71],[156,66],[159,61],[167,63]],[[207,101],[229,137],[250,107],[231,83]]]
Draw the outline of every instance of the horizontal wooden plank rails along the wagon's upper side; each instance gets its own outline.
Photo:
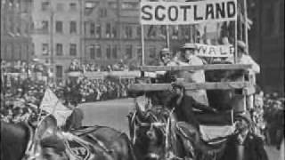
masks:
[[[251,65],[245,64],[209,64],[201,66],[142,66],[142,76],[148,75],[147,72],[155,71],[178,71],[178,70],[246,70],[251,68]],[[248,76],[248,73],[244,73],[243,76]],[[182,83],[186,90],[231,90],[231,89],[243,89],[243,94],[250,95],[255,92],[252,76],[248,76],[248,80],[236,82],[206,82],[206,83]],[[132,84],[130,90],[132,91],[163,91],[171,88],[171,84]]]

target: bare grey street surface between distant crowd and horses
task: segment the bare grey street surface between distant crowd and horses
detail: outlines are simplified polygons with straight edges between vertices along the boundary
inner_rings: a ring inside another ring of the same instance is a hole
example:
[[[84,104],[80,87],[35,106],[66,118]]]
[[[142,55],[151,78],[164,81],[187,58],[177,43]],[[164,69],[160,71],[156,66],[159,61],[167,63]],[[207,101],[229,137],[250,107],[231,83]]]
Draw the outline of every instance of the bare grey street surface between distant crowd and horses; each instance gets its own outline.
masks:
[[[128,134],[127,114],[134,109],[133,99],[107,100],[84,103],[79,106],[85,114],[84,125],[106,125]],[[265,146],[269,160],[279,160],[280,152],[271,146]]]

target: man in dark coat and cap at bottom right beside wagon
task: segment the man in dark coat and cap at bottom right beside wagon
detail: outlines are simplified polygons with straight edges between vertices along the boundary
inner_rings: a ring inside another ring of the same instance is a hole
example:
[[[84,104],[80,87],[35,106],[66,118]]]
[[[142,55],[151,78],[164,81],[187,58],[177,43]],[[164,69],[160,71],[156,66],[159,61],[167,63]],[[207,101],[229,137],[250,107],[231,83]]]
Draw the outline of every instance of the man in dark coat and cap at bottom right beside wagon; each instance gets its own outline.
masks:
[[[249,114],[237,117],[237,129],[240,133],[228,139],[221,160],[268,160],[263,140],[250,131]]]

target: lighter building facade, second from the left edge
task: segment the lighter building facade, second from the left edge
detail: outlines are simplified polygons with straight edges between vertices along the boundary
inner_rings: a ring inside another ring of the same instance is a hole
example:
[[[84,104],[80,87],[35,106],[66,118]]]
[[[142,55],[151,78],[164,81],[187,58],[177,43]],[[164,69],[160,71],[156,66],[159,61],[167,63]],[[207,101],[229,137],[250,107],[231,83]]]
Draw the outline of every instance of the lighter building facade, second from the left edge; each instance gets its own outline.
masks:
[[[64,79],[71,60],[81,58],[81,2],[33,1],[34,58],[49,66],[57,81]]]

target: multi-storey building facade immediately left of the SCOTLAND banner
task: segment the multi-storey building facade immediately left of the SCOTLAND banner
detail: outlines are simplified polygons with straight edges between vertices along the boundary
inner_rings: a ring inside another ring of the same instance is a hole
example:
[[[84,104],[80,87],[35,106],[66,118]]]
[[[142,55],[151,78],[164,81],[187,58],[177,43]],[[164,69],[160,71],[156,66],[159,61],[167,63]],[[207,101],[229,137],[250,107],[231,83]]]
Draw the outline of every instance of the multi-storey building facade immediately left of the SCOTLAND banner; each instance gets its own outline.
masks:
[[[150,30],[150,27],[144,27]],[[85,62],[109,65],[118,60],[141,64],[141,26],[138,0],[88,0],[84,4]],[[165,40],[144,31],[145,57],[155,58]]]

